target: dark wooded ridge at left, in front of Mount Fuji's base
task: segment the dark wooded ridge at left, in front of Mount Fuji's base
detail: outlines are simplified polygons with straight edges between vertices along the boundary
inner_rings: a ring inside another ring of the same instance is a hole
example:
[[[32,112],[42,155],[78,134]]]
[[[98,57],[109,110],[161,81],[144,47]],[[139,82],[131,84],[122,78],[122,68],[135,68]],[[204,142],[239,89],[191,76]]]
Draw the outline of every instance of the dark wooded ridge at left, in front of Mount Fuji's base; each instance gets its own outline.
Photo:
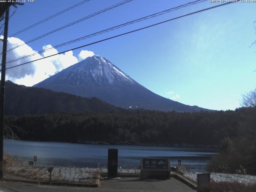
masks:
[[[119,112],[115,107],[98,98],[82,98],[44,88],[26,87],[6,81],[6,115],[44,114],[57,112]]]

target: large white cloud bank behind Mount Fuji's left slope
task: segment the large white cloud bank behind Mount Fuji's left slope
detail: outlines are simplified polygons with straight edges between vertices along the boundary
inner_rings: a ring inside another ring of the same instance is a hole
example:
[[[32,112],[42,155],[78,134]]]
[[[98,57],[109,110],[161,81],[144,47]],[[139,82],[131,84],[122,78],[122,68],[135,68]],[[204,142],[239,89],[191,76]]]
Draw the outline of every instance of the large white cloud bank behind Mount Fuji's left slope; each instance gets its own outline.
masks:
[[[1,38],[3,38],[3,36],[0,36],[0,39]],[[12,47],[15,47],[21,44],[24,44],[24,41],[14,37],[8,38],[7,49],[10,49]],[[51,45],[43,46],[43,50],[46,50],[48,48],[52,48],[52,46]],[[2,52],[2,43],[0,43],[0,52]],[[85,51],[85,52],[90,52],[90,51]],[[6,61],[8,62],[9,60],[13,60],[14,58],[24,56],[24,55],[30,55],[34,53],[36,53],[36,51],[34,51],[30,46],[25,44],[23,46],[20,46],[8,52]],[[48,51],[43,52],[42,55],[37,54],[23,60],[7,63],[6,67],[8,68],[11,66],[25,63],[25,62],[30,62],[32,60],[43,58],[45,56],[49,56],[56,53],[58,53],[58,50],[56,50],[55,48],[52,48]],[[82,56],[85,55],[83,54],[84,53],[83,50],[80,52],[80,54],[81,53],[82,53]],[[0,59],[2,59],[2,56],[0,56]],[[65,54],[59,54],[56,56],[45,58],[43,60],[25,64],[23,66],[18,66],[15,68],[8,69],[6,70],[6,80],[11,80],[12,82],[17,84],[32,86],[56,74],[56,72],[59,72],[64,68],[67,68],[73,64],[76,64],[77,62],[78,62],[78,59],[75,56],[73,56],[73,52],[69,51],[69,52],[66,52]]]

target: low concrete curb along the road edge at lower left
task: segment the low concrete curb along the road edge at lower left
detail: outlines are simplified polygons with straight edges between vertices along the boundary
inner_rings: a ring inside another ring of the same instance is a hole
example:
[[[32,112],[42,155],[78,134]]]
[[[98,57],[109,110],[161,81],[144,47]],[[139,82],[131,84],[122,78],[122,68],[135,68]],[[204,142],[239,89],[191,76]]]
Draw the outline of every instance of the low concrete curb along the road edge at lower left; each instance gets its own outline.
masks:
[[[4,179],[6,182],[22,182],[30,184],[41,184],[41,185],[58,185],[58,186],[72,186],[72,187],[99,187],[100,178],[96,179],[96,184],[80,184],[80,183],[68,183],[68,182],[40,182],[32,180],[16,180],[16,179]]]

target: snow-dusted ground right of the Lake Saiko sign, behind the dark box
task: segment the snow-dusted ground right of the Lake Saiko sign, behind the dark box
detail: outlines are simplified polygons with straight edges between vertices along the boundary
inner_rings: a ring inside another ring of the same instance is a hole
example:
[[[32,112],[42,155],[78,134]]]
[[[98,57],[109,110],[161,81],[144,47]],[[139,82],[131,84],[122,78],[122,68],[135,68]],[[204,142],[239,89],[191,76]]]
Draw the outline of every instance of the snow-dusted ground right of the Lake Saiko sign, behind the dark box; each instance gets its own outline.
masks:
[[[197,182],[196,174],[198,172],[182,171],[184,176]],[[242,182],[242,183],[256,183],[256,176],[242,175],[242,174],[227,174],[227,173],[211,173],[211,180],[215,182]]]

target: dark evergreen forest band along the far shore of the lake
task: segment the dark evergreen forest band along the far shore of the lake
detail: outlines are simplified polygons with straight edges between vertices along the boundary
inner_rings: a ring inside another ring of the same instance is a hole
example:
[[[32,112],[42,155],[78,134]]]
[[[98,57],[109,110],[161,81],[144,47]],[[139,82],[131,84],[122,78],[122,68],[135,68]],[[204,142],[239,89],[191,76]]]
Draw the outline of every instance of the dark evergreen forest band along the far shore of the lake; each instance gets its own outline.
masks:
[[[255,137],[256,107],[215,112],[55,113],[6,116],[22,140],[219,145],[226,138]]]

